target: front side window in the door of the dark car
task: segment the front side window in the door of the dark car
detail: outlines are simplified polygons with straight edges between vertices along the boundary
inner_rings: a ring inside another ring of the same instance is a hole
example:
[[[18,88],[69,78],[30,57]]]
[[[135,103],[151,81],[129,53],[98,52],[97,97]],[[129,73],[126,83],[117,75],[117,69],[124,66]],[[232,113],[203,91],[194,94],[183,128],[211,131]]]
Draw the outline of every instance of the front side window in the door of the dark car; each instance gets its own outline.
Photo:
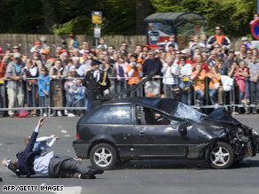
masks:
[[[137,125],[169,125],[167,116],[153,109],[137,105]]]

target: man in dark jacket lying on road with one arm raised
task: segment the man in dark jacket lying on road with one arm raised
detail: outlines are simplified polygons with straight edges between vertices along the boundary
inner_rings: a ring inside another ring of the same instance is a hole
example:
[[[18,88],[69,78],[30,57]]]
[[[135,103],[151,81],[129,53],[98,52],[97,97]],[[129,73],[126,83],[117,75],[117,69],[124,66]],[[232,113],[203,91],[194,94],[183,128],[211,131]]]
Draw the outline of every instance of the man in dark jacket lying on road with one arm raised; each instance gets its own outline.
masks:
[[[39,129],[43,126],[41,118],[33,131],[24,151],[17,154],[15,161],[4,159],[2,165],[8,167],[16,175],[49,175],[53,178],[75,177],[82,179],[94,179],[96,174],[102,174],[103,170],[90,170],[79,161],[66,155],[54,155],[54,151],[40,154],[41,150],[33,151]]]

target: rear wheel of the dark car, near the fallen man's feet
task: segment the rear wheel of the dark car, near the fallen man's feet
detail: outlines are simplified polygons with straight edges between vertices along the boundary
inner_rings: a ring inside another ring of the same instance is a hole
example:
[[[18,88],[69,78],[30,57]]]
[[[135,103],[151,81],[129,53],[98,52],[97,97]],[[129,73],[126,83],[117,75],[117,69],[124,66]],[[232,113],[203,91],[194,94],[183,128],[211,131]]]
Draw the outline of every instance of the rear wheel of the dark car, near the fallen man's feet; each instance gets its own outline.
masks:
[[[114,167],[117,151],[113,145],[97,144],[90,151],[90,163],[93,167],[108,170]]]

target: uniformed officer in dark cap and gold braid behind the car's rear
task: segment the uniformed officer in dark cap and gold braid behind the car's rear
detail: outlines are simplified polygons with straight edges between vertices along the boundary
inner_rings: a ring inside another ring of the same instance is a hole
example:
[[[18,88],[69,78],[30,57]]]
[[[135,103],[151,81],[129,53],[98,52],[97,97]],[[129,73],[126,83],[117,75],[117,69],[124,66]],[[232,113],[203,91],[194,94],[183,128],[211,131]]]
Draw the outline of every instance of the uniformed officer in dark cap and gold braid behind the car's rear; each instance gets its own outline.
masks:
[[[87,88],[88,111],[100,97],[104,96],[104,90],[111,86],[108,74],[99,69],[99,64],[100,62],[97,60],[91,60],[91,70],[87,72],[82,81],[82,85]]]

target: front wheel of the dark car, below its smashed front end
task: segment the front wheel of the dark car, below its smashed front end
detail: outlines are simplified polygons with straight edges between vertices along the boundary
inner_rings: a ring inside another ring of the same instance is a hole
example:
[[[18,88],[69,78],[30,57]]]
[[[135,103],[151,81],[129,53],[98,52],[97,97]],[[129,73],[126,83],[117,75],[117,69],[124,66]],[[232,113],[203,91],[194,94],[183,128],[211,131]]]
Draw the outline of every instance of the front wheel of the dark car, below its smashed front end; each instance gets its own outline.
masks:
[[[214,169],[226,169],[232,166],[234,151],[230,144],[216,142],[208,151],[208,165]]]

